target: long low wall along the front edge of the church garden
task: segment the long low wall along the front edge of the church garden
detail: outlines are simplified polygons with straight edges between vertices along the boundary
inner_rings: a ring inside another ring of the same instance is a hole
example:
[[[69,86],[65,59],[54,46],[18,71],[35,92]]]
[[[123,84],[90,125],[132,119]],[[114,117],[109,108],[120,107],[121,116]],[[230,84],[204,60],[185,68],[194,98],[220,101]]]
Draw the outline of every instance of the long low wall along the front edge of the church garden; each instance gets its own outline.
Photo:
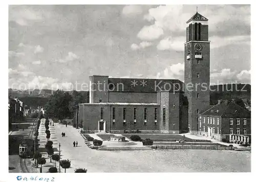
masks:
[[[233,147],[214,145],[152,145],[152,149],[203,149],[203,150],[232,150]]]

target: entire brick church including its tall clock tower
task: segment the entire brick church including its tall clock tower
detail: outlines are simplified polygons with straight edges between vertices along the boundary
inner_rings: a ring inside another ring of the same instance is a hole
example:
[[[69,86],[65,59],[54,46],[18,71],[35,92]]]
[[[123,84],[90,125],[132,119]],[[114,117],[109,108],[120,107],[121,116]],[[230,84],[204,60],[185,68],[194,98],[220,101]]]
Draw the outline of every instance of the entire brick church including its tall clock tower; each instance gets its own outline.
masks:
[[[184,83],[177,79],[91,76],[90,102],[79,104],[83,131],[198,134],[199,113],[209,107],[207,22],[198,12],[187,21]]]

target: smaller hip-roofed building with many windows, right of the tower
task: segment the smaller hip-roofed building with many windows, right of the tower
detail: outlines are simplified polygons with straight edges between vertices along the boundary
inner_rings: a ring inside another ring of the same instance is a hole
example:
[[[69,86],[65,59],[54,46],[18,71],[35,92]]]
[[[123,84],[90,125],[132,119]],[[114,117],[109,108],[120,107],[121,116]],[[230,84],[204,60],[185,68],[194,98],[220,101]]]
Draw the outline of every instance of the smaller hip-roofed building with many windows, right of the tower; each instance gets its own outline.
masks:
[[[251,113],[232,101],[221,101],[199,115],[199,133],[206,137],[229,140],[230,134],[251,134]],[[204,122],[210,119],[212,122]]]

